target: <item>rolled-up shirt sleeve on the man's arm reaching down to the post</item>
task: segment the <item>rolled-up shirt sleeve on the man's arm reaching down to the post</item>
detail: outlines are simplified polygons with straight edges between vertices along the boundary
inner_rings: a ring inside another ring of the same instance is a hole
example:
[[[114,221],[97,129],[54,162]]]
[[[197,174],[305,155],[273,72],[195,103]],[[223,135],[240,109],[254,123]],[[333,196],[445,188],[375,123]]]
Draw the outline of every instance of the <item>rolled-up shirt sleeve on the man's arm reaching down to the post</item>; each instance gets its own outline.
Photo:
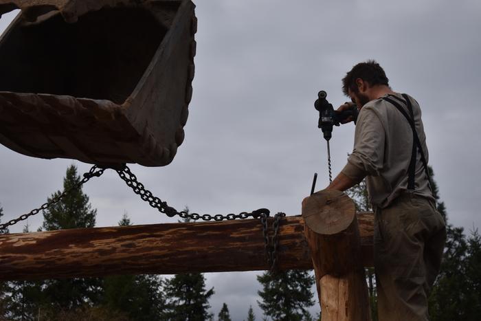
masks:
[[[361,175],[379,176],[384,163],[384,144],[385,130],[379,116],[372,107],[363,107],[356,124],[353,153],[348,157],[344,175],[355,180]]]

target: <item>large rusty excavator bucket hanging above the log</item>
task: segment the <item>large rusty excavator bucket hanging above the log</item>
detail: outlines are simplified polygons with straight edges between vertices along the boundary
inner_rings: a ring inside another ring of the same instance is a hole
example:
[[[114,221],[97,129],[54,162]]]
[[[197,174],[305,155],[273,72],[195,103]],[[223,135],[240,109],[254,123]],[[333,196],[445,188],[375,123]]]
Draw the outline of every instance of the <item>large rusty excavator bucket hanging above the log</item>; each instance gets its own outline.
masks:
[[[0,143],[41,158],[164,166],[183,142],[190,0],[0,0]]]

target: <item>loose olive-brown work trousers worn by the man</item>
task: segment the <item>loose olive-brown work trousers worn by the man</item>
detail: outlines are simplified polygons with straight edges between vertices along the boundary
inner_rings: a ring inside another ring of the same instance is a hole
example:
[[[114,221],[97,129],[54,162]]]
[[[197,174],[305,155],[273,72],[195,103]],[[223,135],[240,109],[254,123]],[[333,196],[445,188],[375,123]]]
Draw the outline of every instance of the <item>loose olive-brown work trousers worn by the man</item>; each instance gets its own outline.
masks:
[[[374,216],[379,321],[429,320],[427,297],[446,241],[433,201],[405,193]]]

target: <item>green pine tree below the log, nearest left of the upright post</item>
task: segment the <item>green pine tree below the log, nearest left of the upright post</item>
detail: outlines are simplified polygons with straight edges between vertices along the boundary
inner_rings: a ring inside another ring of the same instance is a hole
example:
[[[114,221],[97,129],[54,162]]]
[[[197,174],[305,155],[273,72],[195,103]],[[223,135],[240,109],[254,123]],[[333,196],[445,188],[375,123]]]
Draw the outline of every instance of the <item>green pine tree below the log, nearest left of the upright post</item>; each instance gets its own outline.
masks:
[[[262,302],[258,301],[258,305],[265,316],[280,321],[303,320],[310,316],[306,307],[314,305],[311,287],[315,281],[309,272],[265,272],[257,276],[257,280],[262,285],[262,291],[258,291]]]

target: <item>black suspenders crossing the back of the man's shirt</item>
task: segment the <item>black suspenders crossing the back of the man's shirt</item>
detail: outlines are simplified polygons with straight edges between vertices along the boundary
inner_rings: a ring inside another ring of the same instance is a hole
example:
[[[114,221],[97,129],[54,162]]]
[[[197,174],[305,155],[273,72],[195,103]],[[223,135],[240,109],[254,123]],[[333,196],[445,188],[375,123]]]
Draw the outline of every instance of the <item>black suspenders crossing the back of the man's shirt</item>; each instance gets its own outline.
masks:
[[[391,97],[396,98],[396,99],[392,99]],[[418,133],[416,131],[416,126],[414,124],[414,113],[412,111],[411,100],[407,97],[407,95],[405,93],[403,93],[403,98],[406,100],[405,104],[407,106],[407,109],[409,110],[409,113],[410,113],[409,115],[403,109],[401,104],[398,101],[396,101],[396,100],[400,100],[402,102],[401,98],[398,98],[398,97],[392,95],[390,97],[383,97],[383,100],[386,100],[387,102],[390,102],[391,104],[393,104],[394,107],[396,107],[396,109],[399,110],[403,114],[403,116],[406,118],[407,122],[409,122],[409,124],[411,126],[413,140],[412,140],[411,161],[410,161],[409,169],[408,169],[408,172],[407,172],[408,173],[407,189],[415,190],[414,176],[415,176],[415,171],[416,171],[416,155],[417,155],[416,154],[416,146],[417,146],[417,149],[419,150],[419,153],[421,153],[421,162],[423,162],[423,166],[424,166],[428,181],[429,181],[429,170],[427,169],[427,162],[426,162],[426,158],[424,157],[423,146],[421,146],[421,141],[419,140]]]

